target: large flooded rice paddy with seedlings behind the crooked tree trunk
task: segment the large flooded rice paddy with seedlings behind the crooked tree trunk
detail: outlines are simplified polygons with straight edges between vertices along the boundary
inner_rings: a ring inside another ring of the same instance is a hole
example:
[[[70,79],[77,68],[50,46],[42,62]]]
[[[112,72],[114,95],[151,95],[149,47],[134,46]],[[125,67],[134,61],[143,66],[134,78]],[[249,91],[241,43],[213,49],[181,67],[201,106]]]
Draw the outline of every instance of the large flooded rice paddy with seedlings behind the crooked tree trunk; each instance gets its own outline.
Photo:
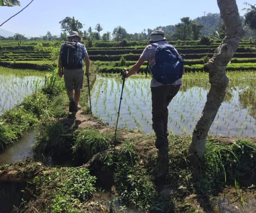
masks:
[[[255,72],[227,72],[227,94],[209,134],[234,137],[256,136]],[[143,75],[127,78],[121,103],[119,127],[153,132],[151,124],[150,78]],[[119,75],[100,75],[93,87],[93,114],[115,125],[122,82]],[[206,102],[210,84],[204,72],[183,76],[183,86],[169,104],[170,132],[191,134]]]

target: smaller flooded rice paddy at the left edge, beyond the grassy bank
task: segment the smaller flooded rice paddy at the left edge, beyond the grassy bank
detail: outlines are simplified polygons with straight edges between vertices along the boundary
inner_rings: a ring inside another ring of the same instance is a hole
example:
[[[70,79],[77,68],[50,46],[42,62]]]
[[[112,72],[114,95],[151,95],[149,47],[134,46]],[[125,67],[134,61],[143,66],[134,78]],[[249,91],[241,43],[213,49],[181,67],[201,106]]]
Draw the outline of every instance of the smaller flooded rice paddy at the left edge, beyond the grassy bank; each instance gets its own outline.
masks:
[[[0,67],[0,115],[44,83],[44,72]]]

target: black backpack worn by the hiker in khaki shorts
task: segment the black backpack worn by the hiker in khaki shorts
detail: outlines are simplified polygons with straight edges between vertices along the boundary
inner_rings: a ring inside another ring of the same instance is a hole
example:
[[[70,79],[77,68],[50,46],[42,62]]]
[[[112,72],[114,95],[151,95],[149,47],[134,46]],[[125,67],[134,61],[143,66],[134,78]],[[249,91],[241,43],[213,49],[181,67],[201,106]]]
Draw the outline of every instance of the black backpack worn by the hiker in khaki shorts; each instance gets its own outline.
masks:
[[[81,68],[80,60],[77,57],[77,42],[66,41],[61,54],[61,65],[67,69]]]

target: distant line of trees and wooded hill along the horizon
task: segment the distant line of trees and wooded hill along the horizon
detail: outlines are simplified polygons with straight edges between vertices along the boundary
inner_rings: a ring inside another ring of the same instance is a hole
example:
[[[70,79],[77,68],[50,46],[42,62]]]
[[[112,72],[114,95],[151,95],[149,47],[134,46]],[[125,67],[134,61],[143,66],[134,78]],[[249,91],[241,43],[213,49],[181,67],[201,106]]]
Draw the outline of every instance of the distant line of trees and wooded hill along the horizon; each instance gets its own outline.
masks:
[[[244,17],[241,17],[243,27],[245,29],[244,38],[256,39],[256,7],[246,3],[249,8],[247,8],[247,13]],[[223,39],[225,36],[225,26],[221,19],[220,14],[208,13],[202,17],[198,17],[191,20],[189,17],[183,17],[180,19],[180,23],[169,26],[157,26],[154,29],[143,29],[142,32],[129,34],[126,29],[122,26],[116,26],[113,32],[105,32],[101,35],[103,26],[97,23],[94,27],[89,27],[87,30],[82,31],[83,24],[76,20],[75,17],[65,17],[59,22],[61,24],[61,35],[57,37],[52,35],[51,32],[47,32],[46,35],[41,37],[32,37],[30,39],[26,38],[24,35],[16,33],[13,37],[2,37],[0,40],[66,40],[67,35],[71,31],[79,32],[79,35],[83,40],[90,44],[93,41],[122,41],[124,39],[133,40],[148,40],[150,33],[155,29],[162,29],[165,32],[165,37],[167,40],[198,40],[201,36],[208,36],[215,39]]]

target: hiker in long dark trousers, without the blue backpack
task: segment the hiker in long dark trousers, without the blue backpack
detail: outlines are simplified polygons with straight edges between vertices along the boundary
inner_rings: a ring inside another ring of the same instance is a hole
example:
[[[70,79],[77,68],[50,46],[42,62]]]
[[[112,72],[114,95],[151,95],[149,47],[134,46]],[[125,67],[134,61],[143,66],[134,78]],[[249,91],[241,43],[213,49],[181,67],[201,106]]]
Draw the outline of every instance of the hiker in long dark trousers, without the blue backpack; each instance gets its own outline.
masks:
[[[125,71],[122,73],[124,78],[127,78],[134,73],[136,73],[140,66],[143,64],[145,60],[148,60],[148,66],[153,77],[151,66],[155,63],[155,52],[157,46],[160,45],[168,45],[166,38],[164,37],[164,32],[162,30],[155,30],[151,32],[149,45],[144,49],[143,53],[140,55],[139,60],[137,63],[132,66],[129,71]],[[170,45],[169,45],[170,46]],[[173,47],[173,46],[172,46]],[[175,53],[177,50],[173,47]],[[182,60],[180,55],[177,57],[179,60]],[[181,69],[181,76],[184,73],[183,64]],[[181,78],[181,77],[180,77]],[[177,92],[180,89],[181,79],[177,78],[177,81],[170,84],[164,84],[157,81],[154,77],[151,80],[150,87],[151,87],[151,99],[152,99],[152,127],[154,132],[156,133],[156,141],[155,146],[158,149],[158,157],[157,163],[158,169],[157,176],[163,176],[166,174],[168,170],[168,135],[169,132],[167,130],[167,123],[168,123],[168,109],[167,106],[172,101],[172,98],[175,97]]]

